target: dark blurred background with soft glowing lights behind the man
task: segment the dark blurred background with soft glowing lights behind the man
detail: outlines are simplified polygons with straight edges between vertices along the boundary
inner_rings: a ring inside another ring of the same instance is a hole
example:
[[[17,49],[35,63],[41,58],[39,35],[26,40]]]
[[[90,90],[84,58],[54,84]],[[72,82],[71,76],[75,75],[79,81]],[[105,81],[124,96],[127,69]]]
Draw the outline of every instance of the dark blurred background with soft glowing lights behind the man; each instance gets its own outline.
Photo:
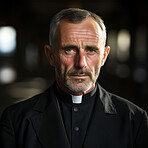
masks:
[[[49,22],[78,7],[104,20],[111,46],[99,83],[148,111],[148,4],[146,0],[1,0],[0,114],[49,87],[54,69],[44,55]]]

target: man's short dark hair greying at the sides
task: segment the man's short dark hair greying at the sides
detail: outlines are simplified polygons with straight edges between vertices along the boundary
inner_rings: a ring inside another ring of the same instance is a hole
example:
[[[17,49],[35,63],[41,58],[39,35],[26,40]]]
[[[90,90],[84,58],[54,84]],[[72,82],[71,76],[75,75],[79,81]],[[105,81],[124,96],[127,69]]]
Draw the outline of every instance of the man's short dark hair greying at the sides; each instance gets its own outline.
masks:
[[[68,8],[68,9],[63,9],[59,13],[57,13],[50,22],[49,44],[51,45],[51,47],[54,48],[56,31],[60,21],[62,21],[63,19],[67,19],[70,23],[76,24],[76,23],[82,22],[84,19],[89,17],[93,18],[99,24],[103,33],[103,39],[105,44],[106,43],[106,27],[100,16],[84,9]]]

